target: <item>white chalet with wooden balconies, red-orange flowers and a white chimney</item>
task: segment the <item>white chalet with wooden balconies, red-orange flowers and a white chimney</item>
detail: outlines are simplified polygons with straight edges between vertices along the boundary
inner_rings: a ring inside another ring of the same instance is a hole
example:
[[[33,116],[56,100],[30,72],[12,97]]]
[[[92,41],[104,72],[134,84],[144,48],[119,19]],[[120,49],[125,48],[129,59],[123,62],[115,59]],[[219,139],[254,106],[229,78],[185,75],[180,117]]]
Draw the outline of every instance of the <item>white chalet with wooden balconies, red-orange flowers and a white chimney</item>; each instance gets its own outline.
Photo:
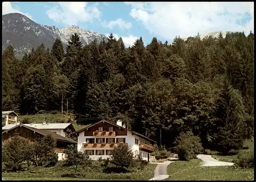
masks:
[[[131,131],[118,120],[116,124],[101,120],[76,132],[78,135],[77,150],[88,151],[92,159],[106,159],[111,156],[111,150],[119,143],[131,146],[134,155],[141,155],[149,161],[150,153],[154,151],[155,141]]]

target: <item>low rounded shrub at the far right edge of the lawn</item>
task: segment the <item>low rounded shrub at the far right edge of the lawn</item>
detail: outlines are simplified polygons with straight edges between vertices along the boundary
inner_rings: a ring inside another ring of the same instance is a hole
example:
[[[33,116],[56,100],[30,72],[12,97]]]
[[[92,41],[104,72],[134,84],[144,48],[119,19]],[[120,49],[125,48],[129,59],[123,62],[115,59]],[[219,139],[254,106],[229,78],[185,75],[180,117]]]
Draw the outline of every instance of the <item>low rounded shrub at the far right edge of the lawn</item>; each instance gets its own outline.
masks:
[[[254,152],[251,150],[240,151],[238,153],[237,159],[234,160],[236,166],[243,168],[253,168],[254,167]]]

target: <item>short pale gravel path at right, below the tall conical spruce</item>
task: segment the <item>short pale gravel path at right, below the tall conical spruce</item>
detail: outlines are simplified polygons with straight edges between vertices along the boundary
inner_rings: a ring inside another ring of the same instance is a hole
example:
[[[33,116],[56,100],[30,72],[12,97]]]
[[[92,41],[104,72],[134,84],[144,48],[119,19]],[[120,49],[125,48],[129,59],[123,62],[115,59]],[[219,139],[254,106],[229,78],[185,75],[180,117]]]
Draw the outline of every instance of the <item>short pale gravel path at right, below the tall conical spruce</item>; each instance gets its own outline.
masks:
[[[212,158],[211,155],[198,154],[197,158],[203,161],[203,164],[201,166],[232,166],[234,165],[234,163],[218,161]]]

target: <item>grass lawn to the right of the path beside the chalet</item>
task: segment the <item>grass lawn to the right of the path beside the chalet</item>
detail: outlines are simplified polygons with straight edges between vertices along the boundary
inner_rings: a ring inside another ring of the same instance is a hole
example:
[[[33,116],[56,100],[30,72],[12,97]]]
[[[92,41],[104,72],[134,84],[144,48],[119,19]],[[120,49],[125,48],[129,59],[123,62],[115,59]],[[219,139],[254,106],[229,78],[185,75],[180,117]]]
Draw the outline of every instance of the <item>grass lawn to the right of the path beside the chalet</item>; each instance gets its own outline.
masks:
[[[177,161],[167,167],[169,177],[165,180],[253,180],[254,169],[233,166],[201,167],[200,159],[189,162]]]

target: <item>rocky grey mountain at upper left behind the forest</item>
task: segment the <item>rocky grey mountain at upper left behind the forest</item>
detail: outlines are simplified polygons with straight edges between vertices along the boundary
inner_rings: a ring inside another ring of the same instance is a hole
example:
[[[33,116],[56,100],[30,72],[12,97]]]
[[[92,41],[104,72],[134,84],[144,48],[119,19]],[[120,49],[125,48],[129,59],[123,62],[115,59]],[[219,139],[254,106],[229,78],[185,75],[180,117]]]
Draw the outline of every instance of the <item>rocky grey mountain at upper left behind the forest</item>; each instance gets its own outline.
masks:
[[[55,26],[38,24],[19,13],[2,15],[2,49],[11,44],[17,55],[27,53],[41,43],[51,48],[58,37],[66,47],[74,33],[80,36],[83,45],[91,43],[95,38],[99,41],[106,39],[103,34],[86,31],[76,25],[58,29]]]

